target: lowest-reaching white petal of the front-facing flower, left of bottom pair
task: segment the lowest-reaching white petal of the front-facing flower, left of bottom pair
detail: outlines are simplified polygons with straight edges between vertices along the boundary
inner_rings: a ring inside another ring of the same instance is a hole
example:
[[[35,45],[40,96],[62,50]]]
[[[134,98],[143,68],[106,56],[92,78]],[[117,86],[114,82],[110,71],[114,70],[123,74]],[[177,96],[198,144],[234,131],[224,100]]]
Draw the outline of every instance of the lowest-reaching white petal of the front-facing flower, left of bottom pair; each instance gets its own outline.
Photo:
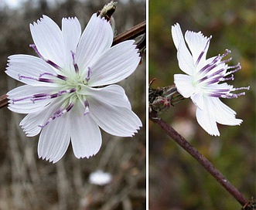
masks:
[[[43,128],[38,144],[39,158],[60,161],[70,144],[70,117],[68,113],[51,121]]]

